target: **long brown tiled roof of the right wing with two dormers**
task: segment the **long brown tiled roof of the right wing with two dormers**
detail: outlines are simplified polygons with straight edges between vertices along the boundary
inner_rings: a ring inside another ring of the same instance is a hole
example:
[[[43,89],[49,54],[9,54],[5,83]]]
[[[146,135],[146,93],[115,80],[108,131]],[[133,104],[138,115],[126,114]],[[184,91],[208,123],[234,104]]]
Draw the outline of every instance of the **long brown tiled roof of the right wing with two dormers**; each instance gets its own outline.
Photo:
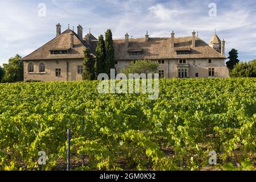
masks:
[[[129,39],[125,43],[124,39],[114,40],[116,60],[134,59],[179,59],[179,58],[220,58],[226,59],[220,52],[210,47],[207,43],[196,37],[196,47],[192,47],[192,37],[182,37],[174,39],[174,48],[171,48],[171,38],[145,38]],[[131,49],[143,49],[141,55],[129,55]],[[176,51],[191,51],[189,55],[177,55]]]

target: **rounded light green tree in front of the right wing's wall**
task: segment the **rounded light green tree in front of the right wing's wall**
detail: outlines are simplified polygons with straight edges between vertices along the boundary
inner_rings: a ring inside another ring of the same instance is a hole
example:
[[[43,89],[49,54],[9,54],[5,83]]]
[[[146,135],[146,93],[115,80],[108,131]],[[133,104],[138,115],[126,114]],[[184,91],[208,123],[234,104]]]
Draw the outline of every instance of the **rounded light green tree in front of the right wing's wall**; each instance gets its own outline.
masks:
[[[129,73],[158,73],[159,64],[150,60],[137,60],[135,63],[127,65],[121,70],[121,73],[129,75]]]

